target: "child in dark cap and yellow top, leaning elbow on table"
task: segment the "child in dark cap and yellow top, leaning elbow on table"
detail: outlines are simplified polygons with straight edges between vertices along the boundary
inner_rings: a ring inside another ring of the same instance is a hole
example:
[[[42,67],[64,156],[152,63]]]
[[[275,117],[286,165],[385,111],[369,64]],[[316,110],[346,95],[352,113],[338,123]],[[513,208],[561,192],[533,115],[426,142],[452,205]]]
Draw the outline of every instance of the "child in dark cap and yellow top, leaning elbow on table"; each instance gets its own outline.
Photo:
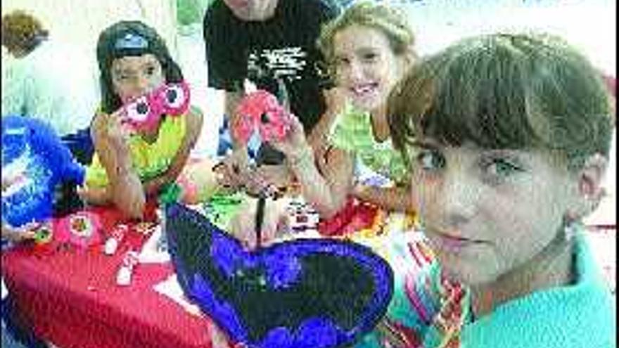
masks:
[[[161,37],[139,21],[121,21],[98,39],[101,109],[91,136],[96,154],[87,169],[82,197],[94,204],[113,203],[128,217],[141,218],[146,197],[174,181],[202,128],[202,114],[162,115],[155,127],[127,131],[124,103],[179,83],[183,75]]]

